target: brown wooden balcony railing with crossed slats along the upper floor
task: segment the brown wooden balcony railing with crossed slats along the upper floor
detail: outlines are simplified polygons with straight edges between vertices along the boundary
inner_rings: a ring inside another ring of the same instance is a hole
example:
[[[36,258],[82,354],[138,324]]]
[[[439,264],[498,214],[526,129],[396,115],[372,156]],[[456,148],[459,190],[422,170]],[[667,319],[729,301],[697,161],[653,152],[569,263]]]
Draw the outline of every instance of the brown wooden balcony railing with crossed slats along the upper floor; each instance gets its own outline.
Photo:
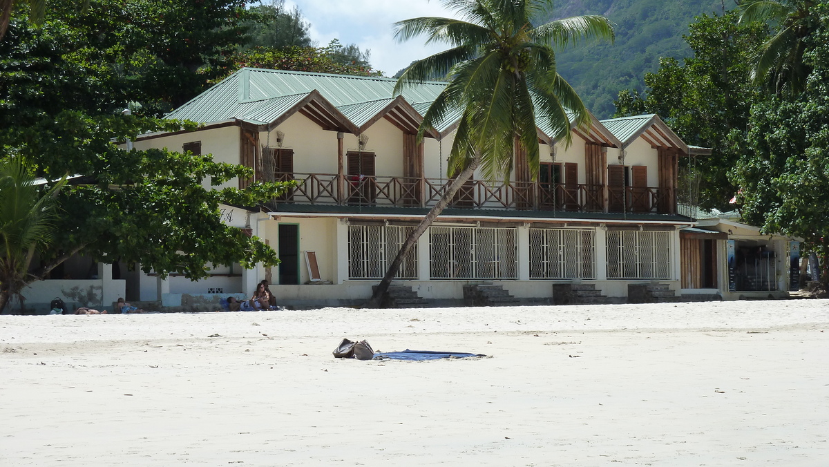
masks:
[[[293,175],[293,178],[286,177]],[[330,173],[277,174],[278,180],[298,182],[277,204],[321,204],[379,207],[432,207],[444,195],[446,178],[344,176]],[[565,212],[676,212],[670,189],[604,187],[541,182],[469,180],[450,207]]]

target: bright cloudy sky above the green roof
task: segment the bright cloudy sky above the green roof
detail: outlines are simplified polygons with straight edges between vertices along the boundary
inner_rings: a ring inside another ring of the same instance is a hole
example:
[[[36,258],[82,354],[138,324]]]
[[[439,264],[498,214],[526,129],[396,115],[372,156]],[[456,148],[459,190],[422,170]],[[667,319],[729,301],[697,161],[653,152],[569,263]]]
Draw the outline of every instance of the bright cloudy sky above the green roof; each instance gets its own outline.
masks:
[[[398,43],[392,24],[412,17],[453,17],[439,0],[286,0],[285,6],[299,7],[311,23],[308,34],[318,46],[334,38],[342,44],[356,44],[371,50],[371,66],[394,75],[414,60],[448,48],[445,44],[425,46],[423,36]]]

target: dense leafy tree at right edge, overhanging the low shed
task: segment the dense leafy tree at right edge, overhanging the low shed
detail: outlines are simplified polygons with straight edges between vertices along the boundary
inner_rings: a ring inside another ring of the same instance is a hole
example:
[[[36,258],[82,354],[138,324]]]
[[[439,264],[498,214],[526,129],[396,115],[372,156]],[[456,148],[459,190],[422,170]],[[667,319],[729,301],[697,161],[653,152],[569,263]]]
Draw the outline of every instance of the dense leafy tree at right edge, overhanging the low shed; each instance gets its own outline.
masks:
[[[730,176],[746,221],[799,236],[822,256],[829,287],[829,3],[812,10],[804,39],[811,72],[797,96],[774,96],[751,110],[748,147]]]

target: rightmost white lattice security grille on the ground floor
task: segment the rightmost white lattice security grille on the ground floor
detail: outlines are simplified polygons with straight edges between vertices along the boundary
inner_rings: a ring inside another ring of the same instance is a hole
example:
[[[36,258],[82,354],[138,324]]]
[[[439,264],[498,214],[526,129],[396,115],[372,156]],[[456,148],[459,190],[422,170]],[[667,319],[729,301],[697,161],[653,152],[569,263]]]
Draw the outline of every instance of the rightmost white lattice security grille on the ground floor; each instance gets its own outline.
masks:
[[[671,232],[608,231],[608,279],[671,279]]]

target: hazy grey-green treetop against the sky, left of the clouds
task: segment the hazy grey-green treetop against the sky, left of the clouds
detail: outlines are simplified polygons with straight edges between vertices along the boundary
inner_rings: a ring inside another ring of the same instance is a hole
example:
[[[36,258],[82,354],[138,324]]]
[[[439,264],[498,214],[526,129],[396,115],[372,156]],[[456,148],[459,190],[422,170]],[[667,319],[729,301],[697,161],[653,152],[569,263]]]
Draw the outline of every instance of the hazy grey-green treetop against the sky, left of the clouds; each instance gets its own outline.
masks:
[[[309,47],[310,24],[303,18],[298,7],[288,9],[285,0],[271,0],[269,4],[251,7],[255,17],[245,22],[250,41],[243,48],[253,47]]]

